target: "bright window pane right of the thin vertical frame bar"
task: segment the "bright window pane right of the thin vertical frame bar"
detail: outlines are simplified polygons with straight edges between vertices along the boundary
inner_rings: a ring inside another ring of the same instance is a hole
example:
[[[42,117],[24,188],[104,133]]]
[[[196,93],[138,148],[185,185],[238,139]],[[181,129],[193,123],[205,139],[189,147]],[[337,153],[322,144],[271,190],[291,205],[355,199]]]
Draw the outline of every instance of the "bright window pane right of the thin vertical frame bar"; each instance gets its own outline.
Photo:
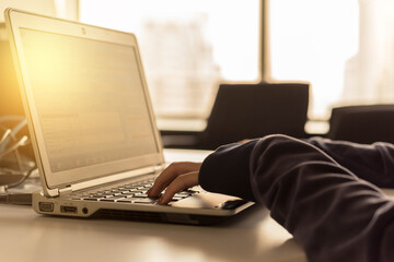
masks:
[[[312,84],[310,117],[331,107],[394,103],[392,0],[273,0],[271,76]]]

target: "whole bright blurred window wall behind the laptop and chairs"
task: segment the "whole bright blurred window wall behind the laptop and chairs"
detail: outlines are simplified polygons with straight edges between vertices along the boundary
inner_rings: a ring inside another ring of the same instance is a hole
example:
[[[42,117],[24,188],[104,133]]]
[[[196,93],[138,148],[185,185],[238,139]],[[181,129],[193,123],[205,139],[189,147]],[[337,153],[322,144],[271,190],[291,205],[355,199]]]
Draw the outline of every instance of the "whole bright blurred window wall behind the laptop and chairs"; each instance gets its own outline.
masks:
[[[394,102],[392,0],[0,2],[7,7],[135,33],[164,131],[204,130],[221,83],[308,82],[310,134],[328,132],[333,107]],[[0,40],[0,110],[20,114],[5,106],[14,79],[3,25]]]

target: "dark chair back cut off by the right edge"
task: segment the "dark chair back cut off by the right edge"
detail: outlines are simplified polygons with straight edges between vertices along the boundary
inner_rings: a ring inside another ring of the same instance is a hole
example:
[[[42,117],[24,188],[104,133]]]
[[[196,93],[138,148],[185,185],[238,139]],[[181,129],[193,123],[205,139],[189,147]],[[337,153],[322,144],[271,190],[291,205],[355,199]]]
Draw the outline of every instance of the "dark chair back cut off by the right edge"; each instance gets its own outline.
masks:
[[[394,143],[394,105],[333,108],[327,136],[364,144],[378,141]]]

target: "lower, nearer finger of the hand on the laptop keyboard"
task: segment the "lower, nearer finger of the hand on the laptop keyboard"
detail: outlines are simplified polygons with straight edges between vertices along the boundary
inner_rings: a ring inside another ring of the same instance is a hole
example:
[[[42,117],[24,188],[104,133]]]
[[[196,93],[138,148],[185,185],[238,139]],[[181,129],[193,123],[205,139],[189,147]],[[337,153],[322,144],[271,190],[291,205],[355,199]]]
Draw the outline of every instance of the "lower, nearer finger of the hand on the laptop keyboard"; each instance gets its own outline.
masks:
[[[159,204],[167,204],[173,196],[184,190],[198,184],[198,171],[190,171],[176,177],[165,189],[164,194],[159,199]]]

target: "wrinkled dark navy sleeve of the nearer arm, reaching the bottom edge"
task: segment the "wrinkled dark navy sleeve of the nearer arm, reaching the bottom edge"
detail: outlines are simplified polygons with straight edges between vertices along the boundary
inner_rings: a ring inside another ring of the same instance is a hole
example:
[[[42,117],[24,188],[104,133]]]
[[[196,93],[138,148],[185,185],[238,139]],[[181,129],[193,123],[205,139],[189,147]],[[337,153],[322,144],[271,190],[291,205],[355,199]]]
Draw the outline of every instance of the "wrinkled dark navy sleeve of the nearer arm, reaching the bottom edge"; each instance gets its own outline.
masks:
[[[313,143],[270,135],[220,147],[199,182],[267,206],[310,261],[394,261],[394,202]]]

